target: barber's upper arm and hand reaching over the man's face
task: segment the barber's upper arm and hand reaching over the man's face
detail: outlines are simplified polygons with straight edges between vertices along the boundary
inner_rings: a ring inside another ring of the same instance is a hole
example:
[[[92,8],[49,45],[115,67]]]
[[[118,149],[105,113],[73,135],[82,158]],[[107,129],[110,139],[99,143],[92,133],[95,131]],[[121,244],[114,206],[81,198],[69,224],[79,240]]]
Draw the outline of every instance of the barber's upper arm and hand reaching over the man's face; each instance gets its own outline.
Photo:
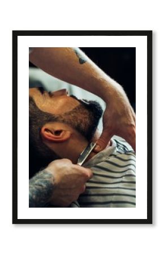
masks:
[[[106,147],[114,134],[136,149],[135,113],[126,93],[79,48],[33,48],[29,60],[50,75],[97,94],[106,102],[97,152]]]

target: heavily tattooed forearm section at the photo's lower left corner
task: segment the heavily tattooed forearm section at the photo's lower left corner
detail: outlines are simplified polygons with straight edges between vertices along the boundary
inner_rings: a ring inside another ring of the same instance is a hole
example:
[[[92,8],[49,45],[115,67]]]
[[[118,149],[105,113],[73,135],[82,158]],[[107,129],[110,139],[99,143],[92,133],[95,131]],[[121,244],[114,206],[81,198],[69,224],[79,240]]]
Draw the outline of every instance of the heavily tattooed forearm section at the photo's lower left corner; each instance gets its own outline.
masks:
[[[46,169],[29,180],[29,207],[45,207],[54,190],[54,177]]]

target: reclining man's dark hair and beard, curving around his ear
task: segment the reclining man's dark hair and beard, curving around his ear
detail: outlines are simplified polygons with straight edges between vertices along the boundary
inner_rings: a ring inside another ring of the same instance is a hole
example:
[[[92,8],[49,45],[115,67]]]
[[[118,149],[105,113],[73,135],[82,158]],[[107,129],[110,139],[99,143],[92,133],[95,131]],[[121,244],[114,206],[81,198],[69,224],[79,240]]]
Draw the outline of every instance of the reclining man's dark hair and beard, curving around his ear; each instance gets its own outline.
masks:
[[[80,102],[80,105],[76,106],[71,111],[54,115],[38,109],[33,98],[29,97],[29,165],[31,166],[32,162],[39,162],[40,167],[45,167],[46,164],[60,158],[42,142],[40,131],[46,123],[66,123],[79,131],[81,135],[90,141],[96,131],[101,115],[102,108],[100,104],[95,101]],[[33,159],[33,161],[31,161],[31,159]],[[33,169],[32,166],[31,168]],[[35,171],[32,171],[32,174],[33,172]]]

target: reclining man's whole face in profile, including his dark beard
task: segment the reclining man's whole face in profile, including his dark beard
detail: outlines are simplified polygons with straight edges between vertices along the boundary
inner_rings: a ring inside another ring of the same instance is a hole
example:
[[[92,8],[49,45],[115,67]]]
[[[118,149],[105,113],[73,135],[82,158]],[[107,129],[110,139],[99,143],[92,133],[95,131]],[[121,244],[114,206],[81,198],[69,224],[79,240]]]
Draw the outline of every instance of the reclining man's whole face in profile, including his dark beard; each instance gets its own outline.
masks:
[[[29,89],[29,96],[37,107],[33,104],[29,107],[34,127],[41,129],[45,122],[62,122],[79,131],[88,141],[93,137],[103,112],[98,102],[68,96],[66,89],[48,93],[43,88],[33,88]]]

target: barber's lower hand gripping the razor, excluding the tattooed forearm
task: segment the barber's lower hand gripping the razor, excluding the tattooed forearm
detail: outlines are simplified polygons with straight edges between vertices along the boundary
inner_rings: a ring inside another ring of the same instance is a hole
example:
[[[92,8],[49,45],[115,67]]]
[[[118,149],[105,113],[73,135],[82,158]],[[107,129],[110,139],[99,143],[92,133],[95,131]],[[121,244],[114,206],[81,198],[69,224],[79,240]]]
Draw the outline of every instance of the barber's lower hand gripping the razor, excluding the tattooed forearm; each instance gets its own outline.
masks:
[[[68,207],[85,191],[85,183],[92,177],[90,169],[80,167],[68,159],[54,160],[46,170],[54,177],[54,192],[50,203]]]

